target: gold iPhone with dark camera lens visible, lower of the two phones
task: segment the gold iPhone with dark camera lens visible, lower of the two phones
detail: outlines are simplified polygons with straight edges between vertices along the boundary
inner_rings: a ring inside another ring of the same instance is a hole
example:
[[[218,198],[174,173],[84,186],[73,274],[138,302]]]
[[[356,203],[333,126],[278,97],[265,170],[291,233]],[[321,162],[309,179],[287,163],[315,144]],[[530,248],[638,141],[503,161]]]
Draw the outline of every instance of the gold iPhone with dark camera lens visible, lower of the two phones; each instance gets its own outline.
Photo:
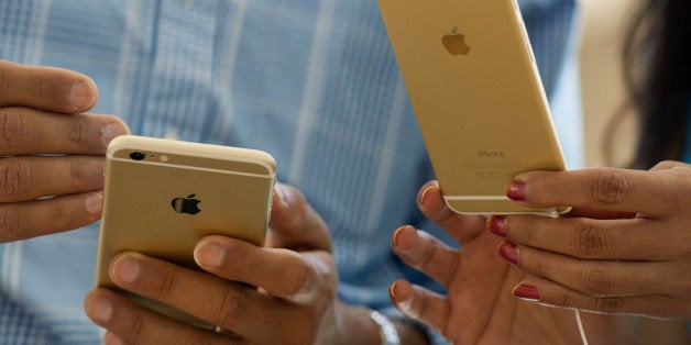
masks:
[[[274,158],[261,151],[117,137],[106,156],[96,285],[117,290],[108,266],[120,252],[198,269],[193,251],[204,236],[220,234],[263,245],[275,176]],[[169,307],[128,296],[175,319],[208,326]]]

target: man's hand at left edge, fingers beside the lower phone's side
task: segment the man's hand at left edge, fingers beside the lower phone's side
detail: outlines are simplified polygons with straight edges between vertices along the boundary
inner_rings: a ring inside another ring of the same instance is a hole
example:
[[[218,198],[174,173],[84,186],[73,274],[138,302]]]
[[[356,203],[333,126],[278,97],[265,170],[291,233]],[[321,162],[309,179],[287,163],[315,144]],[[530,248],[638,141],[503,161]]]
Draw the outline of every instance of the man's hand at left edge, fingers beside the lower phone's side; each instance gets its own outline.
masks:
[[[85,114],[97,99],[78,73],[0,60],[0,243],[100,218],[102,156],[128,129]]]

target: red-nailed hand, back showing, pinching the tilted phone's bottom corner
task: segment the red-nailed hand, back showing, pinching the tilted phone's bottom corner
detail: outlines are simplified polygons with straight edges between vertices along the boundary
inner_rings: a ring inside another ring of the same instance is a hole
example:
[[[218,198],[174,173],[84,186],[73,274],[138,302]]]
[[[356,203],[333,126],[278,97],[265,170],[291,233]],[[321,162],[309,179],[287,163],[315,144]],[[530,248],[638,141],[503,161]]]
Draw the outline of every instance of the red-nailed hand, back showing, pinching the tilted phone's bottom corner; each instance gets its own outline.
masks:
[[[691,166],[533,171],[507,190],[528,207],[574,207],[489,222],[504,256],[533,275],[518,290],[548,305],[691,318]]]

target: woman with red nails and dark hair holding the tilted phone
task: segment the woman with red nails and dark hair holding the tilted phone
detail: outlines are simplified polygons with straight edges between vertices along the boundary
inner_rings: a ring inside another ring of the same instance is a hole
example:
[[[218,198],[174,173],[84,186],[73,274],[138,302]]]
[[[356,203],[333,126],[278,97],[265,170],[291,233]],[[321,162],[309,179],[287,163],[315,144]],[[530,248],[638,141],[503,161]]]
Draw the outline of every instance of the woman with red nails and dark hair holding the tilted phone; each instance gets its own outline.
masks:
[[[547,309],[553,313],[586,311],[581,314],[591,340],[612,332],[621,337],[605,343],[634,342],[639,320],[626,315],[691,318],[691,166],[682,162],[691,153],[691,3],[651,0],[638,13],[625,56],[641,123],[633,167],[648,170],[529,171],[507,185],[506,196],[527,207],[572,205],[560,219],[493,215],[484,223],[452,214],[436,182],[426,185],[420,209],[463,248],[413,227],[396,232],[394,249],[449,289],[443,297],[396,282],[392,300],[404,313],[449,338],[482,340],[457,326],[479,293],[468,287],[469,266],[483,264],[496,276],[486,288],[503,290],[497,303],[513,294],[516,315],[526,303],[556,307]],[[489,247],[482,242],[495,242],[500,255],[476,254]],[[612,319],[591,319],[606,315]]]

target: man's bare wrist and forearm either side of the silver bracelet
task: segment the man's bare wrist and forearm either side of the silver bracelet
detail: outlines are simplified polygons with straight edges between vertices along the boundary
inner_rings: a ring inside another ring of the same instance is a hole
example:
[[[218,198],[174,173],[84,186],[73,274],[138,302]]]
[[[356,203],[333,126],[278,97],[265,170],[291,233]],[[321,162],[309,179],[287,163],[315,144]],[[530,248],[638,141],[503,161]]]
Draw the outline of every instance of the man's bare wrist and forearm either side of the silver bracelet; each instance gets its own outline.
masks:
[[[338,338],[332,344],[384,344],[381,326],[361,307],[337,302]],[[427,335],[412,323],[390,319],[402,345],[429,344]]]

